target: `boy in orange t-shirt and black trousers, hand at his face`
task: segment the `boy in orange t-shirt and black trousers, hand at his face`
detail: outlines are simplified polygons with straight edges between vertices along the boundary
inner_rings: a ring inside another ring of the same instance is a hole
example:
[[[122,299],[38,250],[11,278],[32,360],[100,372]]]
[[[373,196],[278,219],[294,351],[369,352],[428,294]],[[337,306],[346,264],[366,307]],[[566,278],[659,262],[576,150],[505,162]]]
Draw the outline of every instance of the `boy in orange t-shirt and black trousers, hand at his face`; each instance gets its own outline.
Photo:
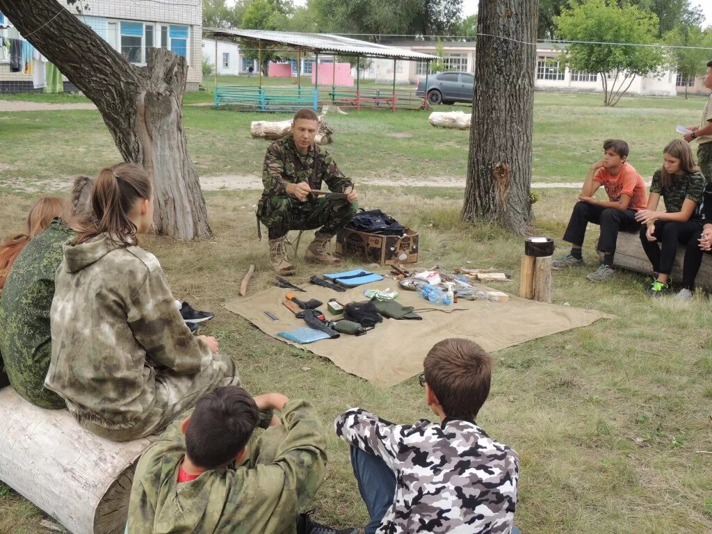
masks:
[[[618,232],[639,229],[640,224],[635,220],[636,211],[646,209],[648,203],[645,182],[637,170],[626,162],[630,152],[628,143],[619,139],[605,140],[603,150],[602,159],[592,164],[588,171],[579,201],[566,227],[564,241],[571,244],[571,251],[553,262],[555,269],[582,266],[581,246],[586,226],[590,222],[600,225],[598,250],[603,253],[603,263],[586,277],[592,282],[608,280],[615,275],[613,256]],[[608,201],[593,198],[601,186],[608,195]]]

